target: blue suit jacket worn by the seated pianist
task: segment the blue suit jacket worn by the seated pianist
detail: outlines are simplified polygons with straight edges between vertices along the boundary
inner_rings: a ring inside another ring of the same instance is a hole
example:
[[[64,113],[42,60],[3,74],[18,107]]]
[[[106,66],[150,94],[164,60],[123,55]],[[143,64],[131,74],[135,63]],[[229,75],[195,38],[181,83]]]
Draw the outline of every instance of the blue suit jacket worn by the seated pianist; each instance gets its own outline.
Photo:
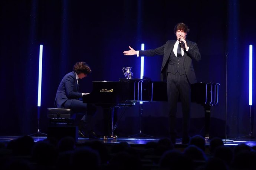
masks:
[[[82,93],[78,92],[78,84],[76,81],[76,74],[74,71],[66,74],[59,84],[56,93],[54,107],[64,108],[64,103],[70,106],[72,99],[82,98]]]

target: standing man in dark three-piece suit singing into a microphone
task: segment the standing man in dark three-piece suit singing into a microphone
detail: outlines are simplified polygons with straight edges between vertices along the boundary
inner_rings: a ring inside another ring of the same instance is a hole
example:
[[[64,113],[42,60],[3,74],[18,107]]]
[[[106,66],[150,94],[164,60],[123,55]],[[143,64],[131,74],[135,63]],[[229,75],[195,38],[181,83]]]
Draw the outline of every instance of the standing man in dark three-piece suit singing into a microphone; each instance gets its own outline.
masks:
[[[164,55],[161,67],[161,81],[167,81],[168,96],[168,118],[170,124],[171,141],[175,144],[176,132],[176,114],[178,98],[181,99],[183,112],[183,136],[182,143],[187,144],[190,140],[190,105],[191,105],[191,84],[197,82],[192,61],[200,61],[201,54],[197,44],[186,40],[189,32],[188,26],[184,23],[178,23],[174,27],[176,40],[169,40],[161,47],[135,51],[130,48],[124,51],[124,55],[154,56]]]

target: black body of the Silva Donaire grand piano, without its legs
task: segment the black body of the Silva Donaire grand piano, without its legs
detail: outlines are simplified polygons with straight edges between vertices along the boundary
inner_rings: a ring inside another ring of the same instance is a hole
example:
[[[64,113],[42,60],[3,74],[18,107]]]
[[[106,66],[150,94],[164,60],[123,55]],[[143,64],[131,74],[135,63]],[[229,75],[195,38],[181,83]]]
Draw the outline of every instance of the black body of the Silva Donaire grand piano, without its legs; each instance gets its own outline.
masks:
[[[167,101],[167,82],[148,79],[120,79],[120,81],[92,81],[92,92],[83,95],[83,103],[125,104],[138,101]],[[217,105],[218,83],[191,85],[191,102],[201,105]]]

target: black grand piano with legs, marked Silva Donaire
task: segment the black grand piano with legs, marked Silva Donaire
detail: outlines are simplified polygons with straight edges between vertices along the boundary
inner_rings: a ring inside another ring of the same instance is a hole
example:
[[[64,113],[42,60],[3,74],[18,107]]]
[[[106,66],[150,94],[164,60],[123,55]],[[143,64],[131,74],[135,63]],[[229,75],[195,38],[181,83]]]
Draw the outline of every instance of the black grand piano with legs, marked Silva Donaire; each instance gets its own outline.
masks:
[[[119,81],[92,81],[92,92],[83,95],[83,103],[101,106],[104,112],[104,139],[116,139],[114,126],[117,109],[136,102],[167,101],[167,82],[150,79],[119,79]],[[205,139],[209,139],[211,106],[219,102],[219,84],[198,82],[191,85],[191,102],[204,107]]]

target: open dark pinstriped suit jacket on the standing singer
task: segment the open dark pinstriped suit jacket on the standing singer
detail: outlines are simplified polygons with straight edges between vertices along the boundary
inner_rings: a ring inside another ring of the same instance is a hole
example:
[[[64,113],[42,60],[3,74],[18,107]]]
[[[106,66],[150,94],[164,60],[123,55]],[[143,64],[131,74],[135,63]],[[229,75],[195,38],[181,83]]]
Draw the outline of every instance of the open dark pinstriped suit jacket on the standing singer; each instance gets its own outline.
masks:
[[[167,79],[167,65],[169,62],[171,51],[173,51],[173,47],[176,41],[177,40],[169,40],[161,47],[155,48],[153,50],[144,50],[139,52],[140,56],[164,55],[162,67],[161,67],[161,81],[166,81]],[[184,55],[183,55],[184,68],[185,68],[188,81],[190,82],[190,84],[194,84],[197,82],[197,79],[196,79],[196,74],[192,64],[192,59],[196,61],[200,61],[201,54],[198,50],[196,43],[188,40],[186,40],[186,42],[189,47],[189,50],[188,51],[184,50]]]

